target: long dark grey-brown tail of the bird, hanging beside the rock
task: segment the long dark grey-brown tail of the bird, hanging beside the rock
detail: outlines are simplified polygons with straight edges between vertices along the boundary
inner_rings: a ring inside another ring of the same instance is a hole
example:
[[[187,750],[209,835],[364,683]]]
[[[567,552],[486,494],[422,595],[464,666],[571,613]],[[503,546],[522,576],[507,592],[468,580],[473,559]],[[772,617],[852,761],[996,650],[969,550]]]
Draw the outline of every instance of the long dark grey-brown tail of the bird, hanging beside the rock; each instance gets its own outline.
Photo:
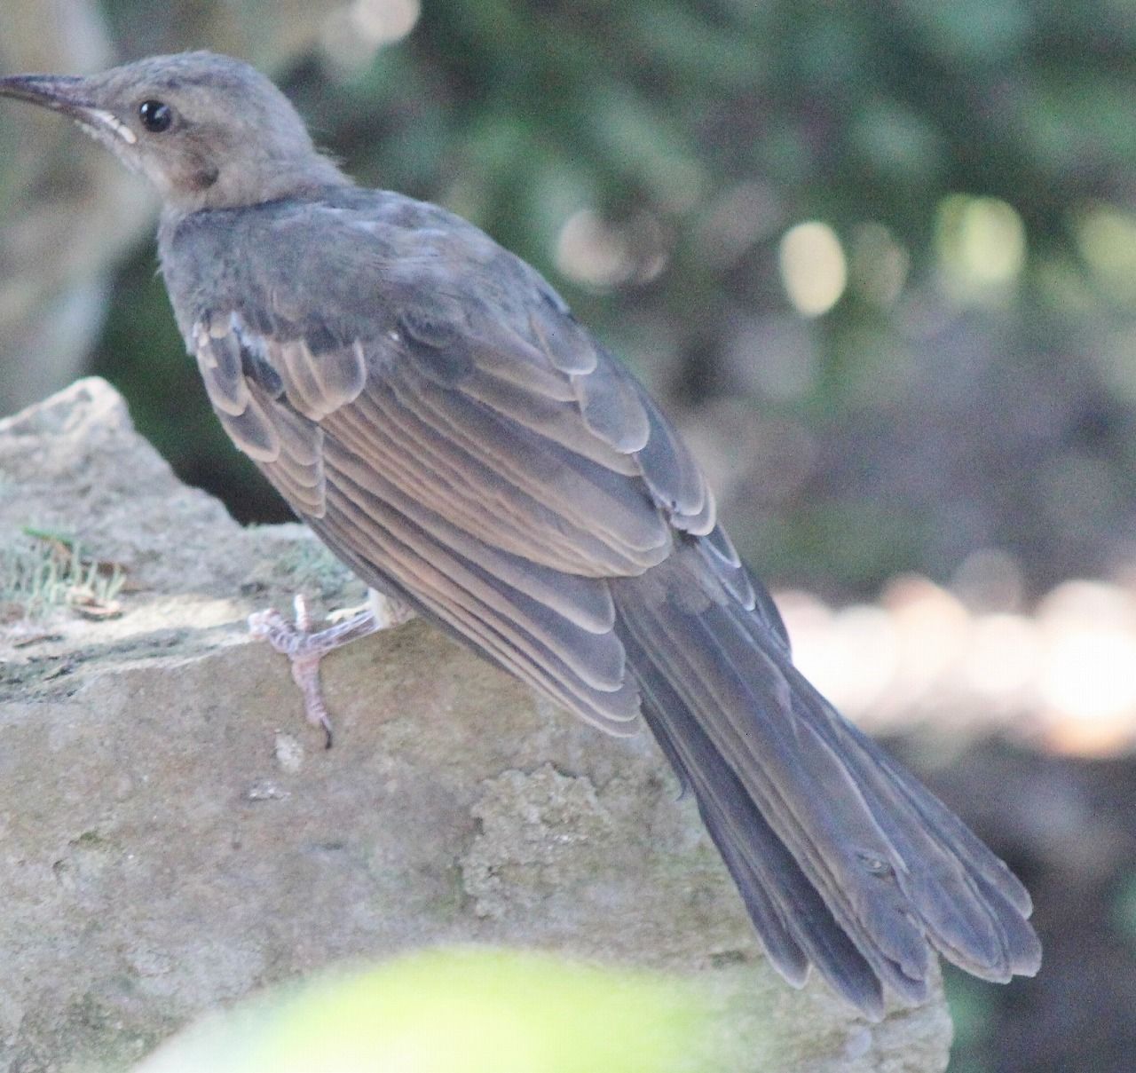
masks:
[[[928,945],[986,980],[1037,971],[1026,889],[796,671],[769,605],[693,543],[613,592],[644,716],[787,980],[816,965],[879,1017],[883,984],[926,998]]]

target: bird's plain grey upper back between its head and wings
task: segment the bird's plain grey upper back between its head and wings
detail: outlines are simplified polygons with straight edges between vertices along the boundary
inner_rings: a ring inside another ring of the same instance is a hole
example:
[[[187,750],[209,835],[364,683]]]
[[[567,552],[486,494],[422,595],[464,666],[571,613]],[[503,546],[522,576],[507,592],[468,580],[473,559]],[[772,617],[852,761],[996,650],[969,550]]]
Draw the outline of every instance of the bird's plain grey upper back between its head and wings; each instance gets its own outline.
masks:
[[[235,300],[275,304],[293,320],[334,309],[359,334],[376,326],[378,305],[444,296],[508,316],[534,294],[554,296],[535,269],[453,212],[351,186],[164,221],[159,255],[179,321]]]

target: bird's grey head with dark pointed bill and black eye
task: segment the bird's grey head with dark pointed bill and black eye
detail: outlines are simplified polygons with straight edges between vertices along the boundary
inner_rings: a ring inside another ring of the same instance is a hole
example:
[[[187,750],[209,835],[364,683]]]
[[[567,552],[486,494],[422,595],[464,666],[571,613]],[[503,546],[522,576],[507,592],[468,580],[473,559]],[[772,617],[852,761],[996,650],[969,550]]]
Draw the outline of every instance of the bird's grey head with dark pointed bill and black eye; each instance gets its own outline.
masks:
[[[15,75],[0,95],[69,116],[158,187],[168,209],[236,208],[348,182],[287,98],[240,60],[154,56],[98,75]]]

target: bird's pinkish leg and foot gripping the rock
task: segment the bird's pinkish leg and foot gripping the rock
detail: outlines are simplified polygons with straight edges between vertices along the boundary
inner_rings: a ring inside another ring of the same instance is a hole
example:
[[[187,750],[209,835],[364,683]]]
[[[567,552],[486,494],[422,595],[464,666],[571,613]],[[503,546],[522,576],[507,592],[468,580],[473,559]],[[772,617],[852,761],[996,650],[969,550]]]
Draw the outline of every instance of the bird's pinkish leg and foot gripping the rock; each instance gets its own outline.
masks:
[[[366,604],[341,612],[337,615],[340,620],[334,624],[316,630],[303,596],[298,594],[293,603],[294,624],[270,607],[249,615],[249,632],[253,637],[264,638],[273,648],[289,657],[292,679],[303,694],[303,711],[308,722],[314,727],[323,727],[327,737],[326,748],[331,748],[332,720],[319,684],[319,661],[352,640],[401,626],[415,617],[415,611],[399,600],[368,589]]]

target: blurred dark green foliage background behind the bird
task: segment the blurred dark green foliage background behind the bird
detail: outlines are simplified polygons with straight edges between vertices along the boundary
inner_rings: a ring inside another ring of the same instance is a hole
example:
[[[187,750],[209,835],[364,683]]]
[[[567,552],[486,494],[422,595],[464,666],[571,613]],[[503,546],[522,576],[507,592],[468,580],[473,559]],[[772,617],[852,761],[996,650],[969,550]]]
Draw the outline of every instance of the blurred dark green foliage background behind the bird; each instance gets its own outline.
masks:
[[[107,8],[145,42],[151,5]],[[1121,0],[425,0],[373,58],[276,74],[360,182],[549,275],[775,581],[870,593],[997,546],[1036,589],[1114,568],[1136,520],[1134,45]],[[847,259],[816,318],[778,274],[809,219]],[[284,517],[152,268],[147,245],[124,269],[99,371],[189,479]]]

